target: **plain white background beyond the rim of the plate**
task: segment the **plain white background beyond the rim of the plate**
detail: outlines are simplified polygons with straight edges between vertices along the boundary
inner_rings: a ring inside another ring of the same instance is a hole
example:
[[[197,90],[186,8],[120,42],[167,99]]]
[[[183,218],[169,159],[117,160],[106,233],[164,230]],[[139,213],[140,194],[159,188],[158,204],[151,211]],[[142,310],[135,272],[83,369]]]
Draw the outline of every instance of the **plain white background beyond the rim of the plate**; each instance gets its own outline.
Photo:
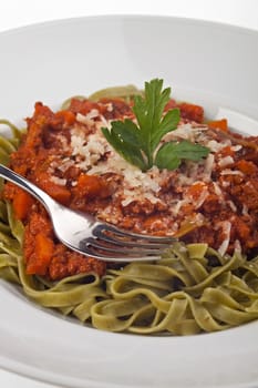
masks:
[[[0,0],[0,32],[48,20],[96,14],[186,17],[258,30],[257,0]],[[58,388],[4,370],[0,370],[0,387]]]

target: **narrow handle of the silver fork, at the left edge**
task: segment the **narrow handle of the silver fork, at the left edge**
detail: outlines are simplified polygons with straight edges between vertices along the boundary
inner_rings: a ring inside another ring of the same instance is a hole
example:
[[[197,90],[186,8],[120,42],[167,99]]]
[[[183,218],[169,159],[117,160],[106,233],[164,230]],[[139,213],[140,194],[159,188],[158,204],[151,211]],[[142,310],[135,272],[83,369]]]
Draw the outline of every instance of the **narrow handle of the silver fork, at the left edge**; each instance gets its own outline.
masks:
[[[29,194],[33,195],[47,208],[50,207],[51,203],[54,203],[54,200],[52,200],[45,192],[43,192],[30,181],[28,181],[25,177],[6,167],[3,164],[0,164],[0,176],[9,182],[17,184],[18,186],[27,191]]]

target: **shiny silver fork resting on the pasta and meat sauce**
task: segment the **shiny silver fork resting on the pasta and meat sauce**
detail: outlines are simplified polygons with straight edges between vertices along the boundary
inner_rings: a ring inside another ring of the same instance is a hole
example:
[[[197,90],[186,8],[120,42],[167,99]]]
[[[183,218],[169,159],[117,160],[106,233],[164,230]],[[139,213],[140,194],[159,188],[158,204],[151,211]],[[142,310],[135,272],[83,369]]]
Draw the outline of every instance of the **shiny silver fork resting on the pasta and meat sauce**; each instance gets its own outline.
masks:
[[[56,237],[85,256],[105,262],[148,262],[159,259],[174,237],[132,233],[95,217],[60,205],[23,176],[0,164],[0,176],[39,200],[48,211]]]

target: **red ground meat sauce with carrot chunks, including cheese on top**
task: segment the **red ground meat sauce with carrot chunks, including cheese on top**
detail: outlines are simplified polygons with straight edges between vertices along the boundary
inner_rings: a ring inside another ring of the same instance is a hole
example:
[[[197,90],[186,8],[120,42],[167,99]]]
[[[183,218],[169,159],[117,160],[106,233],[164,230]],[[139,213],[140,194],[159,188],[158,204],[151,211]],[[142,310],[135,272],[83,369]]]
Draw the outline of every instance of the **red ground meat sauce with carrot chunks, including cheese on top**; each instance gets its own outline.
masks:
[[[185,242],[205,242],[220,253],[258,247],[258,140],[207,126],[203,108],[177,104],[178,130],[169,136],[210,147],[207,160],[183,163],[177,171],[153,169],[145,175],[126,166],[101,139],[112,120],[134,119],[123,100],[91,102],[73,99],[70,109],[52,112],[35,104],[28,132],[11,155],[11,167],[58,202],[89,212],[118,226]],[[109,167],[110,166],[110,167]],[[110,169],[110,170],[109,170]],[[28,274],[56,280],[80,273],[104,275],[106,264],[60,244],[43,207],[8,183],[4,197],[25,225]]]

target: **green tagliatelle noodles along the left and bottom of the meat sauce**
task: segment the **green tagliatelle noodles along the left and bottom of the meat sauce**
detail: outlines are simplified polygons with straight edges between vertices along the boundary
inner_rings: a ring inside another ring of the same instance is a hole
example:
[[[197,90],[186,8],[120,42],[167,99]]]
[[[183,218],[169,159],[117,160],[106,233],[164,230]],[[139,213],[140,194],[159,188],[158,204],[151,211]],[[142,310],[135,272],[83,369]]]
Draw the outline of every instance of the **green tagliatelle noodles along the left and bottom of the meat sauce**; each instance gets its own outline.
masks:
[[[0,137],[0,162],[19,143]],[[207,244],[175,243],[163,258],[107,269],[104,277],[80,274],[60,282],[27,275],[23,225],[0,201],[0,277],[16,283],[37,304],[111,331],[190,335],[216,331],[258,318],[258,256],[219,255]]]

